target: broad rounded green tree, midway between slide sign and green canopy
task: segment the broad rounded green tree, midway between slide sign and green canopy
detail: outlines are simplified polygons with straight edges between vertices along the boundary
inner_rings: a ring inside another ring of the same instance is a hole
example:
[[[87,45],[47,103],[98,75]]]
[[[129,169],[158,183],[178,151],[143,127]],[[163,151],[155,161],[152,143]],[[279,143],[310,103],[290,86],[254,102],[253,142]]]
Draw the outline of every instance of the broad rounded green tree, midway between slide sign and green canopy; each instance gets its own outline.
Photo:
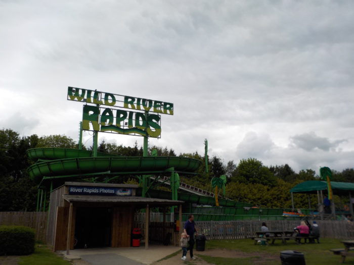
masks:
[[[255,158],[248,158],[241,160],[236,168],[236,175],[233,181],[244,183],[262,184],[268,186],[276,185],[276,177],[269,170],[263,166],[262,162]]]

